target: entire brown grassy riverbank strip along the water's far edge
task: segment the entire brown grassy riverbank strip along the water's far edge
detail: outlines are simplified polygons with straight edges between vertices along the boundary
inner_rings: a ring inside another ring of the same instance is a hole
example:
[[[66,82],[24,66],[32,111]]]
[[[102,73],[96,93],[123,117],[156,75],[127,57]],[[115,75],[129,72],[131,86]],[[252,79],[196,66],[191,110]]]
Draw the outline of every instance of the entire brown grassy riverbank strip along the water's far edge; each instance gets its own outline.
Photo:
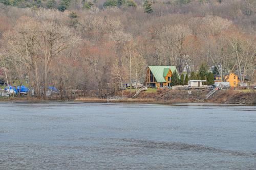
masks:
[[[157,90],[153,92],[141,92],[136,99],[128,98],[120,101],[112,101],[112,103],[218,103],[218,104],[252,104],[256,105],[256,90],[219,90],[212,98],[205,100],[205,95],[209,90]],[[129,95],[125,91],[125,95]],[[41,100],[36,98],[0,98],[0,101],[7,102],[46,102],[46,101],[77,101],[77,102],[107,102],[106,99],[89,98],[83,96],[77,99],[60,100],[57,98]]]

